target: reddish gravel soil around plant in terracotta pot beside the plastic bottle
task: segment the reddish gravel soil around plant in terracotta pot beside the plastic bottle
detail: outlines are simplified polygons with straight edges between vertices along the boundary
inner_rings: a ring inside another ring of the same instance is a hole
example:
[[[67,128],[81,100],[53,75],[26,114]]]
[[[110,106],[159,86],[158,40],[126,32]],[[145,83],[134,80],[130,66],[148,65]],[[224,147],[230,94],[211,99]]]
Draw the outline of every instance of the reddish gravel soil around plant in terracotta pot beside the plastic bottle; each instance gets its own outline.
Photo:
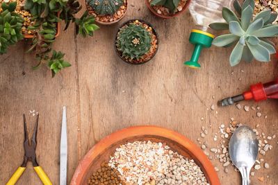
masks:
[[[149,8],[152,8],[152,12],[154,12],[158,17],[164,17],[164,18],[170,18],[174,17],[175,15],[178,15],[179,13],[183,12],[187,8],[187,5],[189,3],[189,0],[180,0],[179,4],[176,8],[172,9],[170,6],[166,7],[163,5],[159,5],[159,3],[156,3],[157,5],[153,5],[157,0],[147,0],[149,3]],[[172,1],[172,0],[167,0]],[[160,2],[160,1],[159,1]]]

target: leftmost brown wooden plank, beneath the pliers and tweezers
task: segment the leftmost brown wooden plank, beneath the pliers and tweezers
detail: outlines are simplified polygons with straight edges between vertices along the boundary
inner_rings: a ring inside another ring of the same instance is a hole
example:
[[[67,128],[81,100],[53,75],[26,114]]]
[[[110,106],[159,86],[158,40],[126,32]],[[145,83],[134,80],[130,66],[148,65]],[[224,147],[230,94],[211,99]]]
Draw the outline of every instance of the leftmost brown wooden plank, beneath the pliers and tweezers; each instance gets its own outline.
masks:
[[[25,43],[26,44],[26,43]],[[54,184],[59,182],[60,127],[63,105],[67,106],[67,129],[69,144],[68,180],[78,163],[77,155],[77,115],[79,97],[76,96],[76,62],[73,28],[61,34],[55,44],[56,49],[66,53],[72,67],[51,78],[45,67],[33,71],[31,56],[25,55],[26,45],[22,42],[14,46],[6,55],[0,56],[0,133],[1,133],[1,184],[8,181],[17,167],[22,164],[23,118],[28,114],[28,127],[33,130],[34,117],[29,110],[40,113],[37,157]],[[24,74],[23,74],[24,73]],[[31,133],[29,133],[31,134]],[[18,184],[39,184],[31,164],[19,179]]]

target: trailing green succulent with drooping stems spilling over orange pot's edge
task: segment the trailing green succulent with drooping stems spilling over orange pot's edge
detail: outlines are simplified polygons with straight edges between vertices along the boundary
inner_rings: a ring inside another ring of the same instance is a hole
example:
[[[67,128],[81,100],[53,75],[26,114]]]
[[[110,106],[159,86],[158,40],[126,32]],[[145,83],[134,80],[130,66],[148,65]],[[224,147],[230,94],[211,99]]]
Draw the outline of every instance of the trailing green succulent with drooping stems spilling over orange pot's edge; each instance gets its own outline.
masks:
[[[70,22],[76,26],[76,33],[83,37],[92,36],[99,27],[95,25],[95,17],[84,12],[81,18],[76,18],[81,5],[77,0],[25,0],[26,10],[29,10],[35,19],[35,25],[28,29],[35,30],[33,42],[28,52],[35,53],[38,60],[37,69],[40,64],[47,63],[51,69],[52,76],[65,67],[70,67],[70,63],[63,59],[64,54],[60,51],[52,50],[52,43],[55,42],[56,28],[59,21],[65,21],[65,30]],[[60,17],[58,17],[60,15]],[[52,55],[49,55],[51,53]]]

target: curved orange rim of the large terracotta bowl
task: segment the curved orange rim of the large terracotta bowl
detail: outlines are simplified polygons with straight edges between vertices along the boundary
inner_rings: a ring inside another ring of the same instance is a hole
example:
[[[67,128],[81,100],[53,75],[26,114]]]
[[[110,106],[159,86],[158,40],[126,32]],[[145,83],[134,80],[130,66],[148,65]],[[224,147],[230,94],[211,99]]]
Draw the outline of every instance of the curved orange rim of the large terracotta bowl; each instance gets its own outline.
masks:
[[[194,156],[195,159],[202,165],[204,173],[206,173],[206,179],[211,183],[211,185],[220,185],[220,180],[218,175],[211,164],[211,161],[206,157],[204,152],[197,146],[193,141],[190,141],[179,134],[178,132],[174,132],[173,130],[168,130],[163,127],[157,126],[135,126],[135,127],[127,127],[123,130],[114,132],[106,136],[104,139],[99,141],[99,143],[95,144],[88,153],[83,157],[80,161],[79,166],[76,168],[74,175],[72,177],[71,185],[79,185],[83,182],[85,175],[90,170],[90,166],[94,159],[101,155],[106,148],[112,146],[113,143],[120,142],[126,138],[131,138],[133,136],[144,136],[144,135],[152,135],[152,136],[161,136],[163,138],[170,139],[176,143],[179,143],[183,148],[188,150],[191,156]]]

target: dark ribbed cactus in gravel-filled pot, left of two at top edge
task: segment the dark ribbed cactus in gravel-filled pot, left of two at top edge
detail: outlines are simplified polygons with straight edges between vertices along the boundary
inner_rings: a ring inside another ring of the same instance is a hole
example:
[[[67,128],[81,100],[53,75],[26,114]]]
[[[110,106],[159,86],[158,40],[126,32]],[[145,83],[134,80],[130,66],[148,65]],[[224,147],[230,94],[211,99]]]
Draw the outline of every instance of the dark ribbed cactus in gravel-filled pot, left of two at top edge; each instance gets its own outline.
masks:
[[[127,0],[85,0],[85,3],[99,24],[114,24],[126,15]]]

